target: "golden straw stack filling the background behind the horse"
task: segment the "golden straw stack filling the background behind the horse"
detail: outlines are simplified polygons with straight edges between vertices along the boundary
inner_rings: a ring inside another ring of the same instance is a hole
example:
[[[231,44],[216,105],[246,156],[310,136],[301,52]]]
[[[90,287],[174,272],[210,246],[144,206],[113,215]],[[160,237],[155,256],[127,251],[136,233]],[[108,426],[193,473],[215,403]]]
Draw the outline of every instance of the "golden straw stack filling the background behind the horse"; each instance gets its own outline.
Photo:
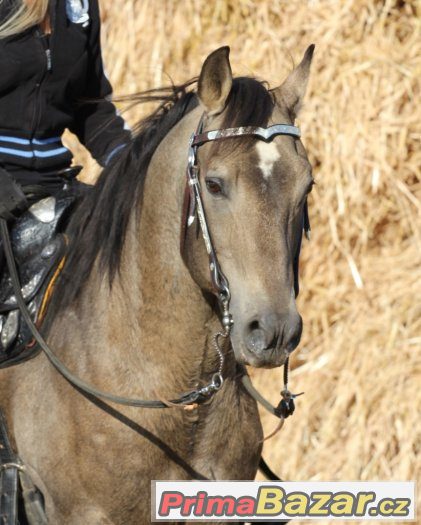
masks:
[[[301,257],[305,391],[265,457],[287,480],[412,480],[421,466],[421,2],[100,0],[116,94],[183,82],[231,46],[281,83],[316,44],[303,143],[317,181]],[[127,113],[133,124],[145,111]],[[93,180],[97,167],[68,138]],[[253,371],[278,400],[282,372]],[[266,434],[276,425],[262,414]],[[294,522],[294,523],[299,523]]]

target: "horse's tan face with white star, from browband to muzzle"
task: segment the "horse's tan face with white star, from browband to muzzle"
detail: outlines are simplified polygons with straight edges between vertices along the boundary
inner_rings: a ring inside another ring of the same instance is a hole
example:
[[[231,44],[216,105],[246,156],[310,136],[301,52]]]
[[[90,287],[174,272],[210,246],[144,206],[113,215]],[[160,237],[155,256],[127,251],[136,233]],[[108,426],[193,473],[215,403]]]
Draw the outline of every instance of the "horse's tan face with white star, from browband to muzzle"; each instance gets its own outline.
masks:
[[[308,71],[309,62],[304,66],[303,62],[297,69]],[[220,70],[230,74],[229,64]],[[302,77],[300,70],[291,75]],[[212,117],[212,97],[203,89],[203,77],[202,70],[199,97],[211,115],[206,127],[227,127],[224,111]],[[296,80],[296,92],[301,93],[297,95],[290,77],[273,93],[266,125],[291,123],[305,86]],[[214,81],[215,70],[211,78]],[[227,82],[226,74],[224,79]],[[257,89],[257,81],[248,82],[255,82]],[[265,89],[258,85],[256,97],[263,96],[259,90]],[[230,86],[232,89],[232,81]],[[218,100],[215,94],[213,100]],[[221,102],[218,104],[220,108]],[[199,165],[210,232],[231,291],[231,341],[236,359],[258,367],[280,366],[298,345],[302,331],[295,303],[294,262],[301,245],[304,206],[313,184],[305,149],[290,136],[278,136],[271,142],[233,138],[202,146]],[[188,250],[193,277],[209,289],[207,258],[197,231],[188,236]]]

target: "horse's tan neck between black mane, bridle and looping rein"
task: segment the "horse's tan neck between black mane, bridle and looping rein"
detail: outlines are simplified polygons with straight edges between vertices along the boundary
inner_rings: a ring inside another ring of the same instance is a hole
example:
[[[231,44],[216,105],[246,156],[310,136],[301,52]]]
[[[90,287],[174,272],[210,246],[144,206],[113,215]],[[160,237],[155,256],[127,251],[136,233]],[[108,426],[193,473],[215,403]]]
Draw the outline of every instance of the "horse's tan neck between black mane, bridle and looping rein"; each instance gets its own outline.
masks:
[[[93,353],[98,360],[100,341],[112,348],[113,357],[103,356],[99,366],[114,368],[124,361],[134,374],[153,375],[155,383],[165,369],[164,381],[172,394],[215,371],[217,364],[207,344],[218,320],[179,252],[188,139],[198,118],[185,117],[157,148],[141,212],[133,211],[129,221],[112,289],[94,269],[77,314],[87,325],[79,326],[79,333],[95,327],[98,337],[91,347],[84,343],[86,355]],[[161,386],[159,392],[165,395]]]

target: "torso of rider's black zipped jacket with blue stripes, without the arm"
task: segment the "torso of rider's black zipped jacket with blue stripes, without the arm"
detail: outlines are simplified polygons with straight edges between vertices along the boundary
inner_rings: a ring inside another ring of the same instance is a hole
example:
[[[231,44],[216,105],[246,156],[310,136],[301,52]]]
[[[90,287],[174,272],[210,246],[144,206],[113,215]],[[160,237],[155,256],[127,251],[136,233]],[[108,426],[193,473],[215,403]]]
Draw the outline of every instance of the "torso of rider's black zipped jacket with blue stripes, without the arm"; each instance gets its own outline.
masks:
[[[51,2],[51,35],[35,27],[0,40],[0,163],[46,169],[71,161],[60,137],[95,82],[88,69],[98,21],[71,21],[68,3]]]

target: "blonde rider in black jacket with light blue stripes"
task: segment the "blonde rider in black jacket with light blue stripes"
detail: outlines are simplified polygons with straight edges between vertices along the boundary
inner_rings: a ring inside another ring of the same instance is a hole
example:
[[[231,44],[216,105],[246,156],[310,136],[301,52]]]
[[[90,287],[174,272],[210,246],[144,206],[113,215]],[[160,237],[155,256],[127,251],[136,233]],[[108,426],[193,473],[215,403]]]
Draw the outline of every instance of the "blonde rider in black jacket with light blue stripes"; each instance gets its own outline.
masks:
[[[66,128],[102,166],[131,134],[110,100],[98,0],[0,0],[0,71],[0,216],[10,219],[27,205],[21,189],[52,194],[75,175]]]

